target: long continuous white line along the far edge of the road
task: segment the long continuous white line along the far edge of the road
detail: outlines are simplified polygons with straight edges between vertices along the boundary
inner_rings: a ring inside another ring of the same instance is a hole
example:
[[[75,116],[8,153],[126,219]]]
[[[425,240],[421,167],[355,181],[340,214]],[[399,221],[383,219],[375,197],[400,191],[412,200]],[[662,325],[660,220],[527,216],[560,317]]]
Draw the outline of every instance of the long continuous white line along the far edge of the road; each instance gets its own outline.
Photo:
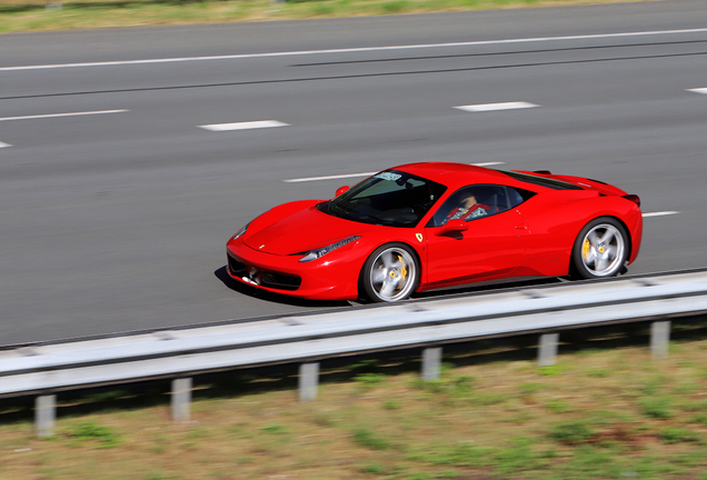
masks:
[[[568,36],[568,37],[537,37],[537,38],[506,39],[506,40],[480,40],[480,41],[451,42],[451,43],[421,43],[421,44],[411,44],[411,46],[368,47],[368,48],[348,48],[348,49],[330,49],[330,50],[302,50],[302,51],[270,52],[270,53],[241,53],[241,54],[209,56],[209,57],[181,57],[181,58],[147,59],[147,60],[1,67],[0,71],[47,70],[47,69],[80,68],[80,67],[114,67],[114,66],[129,66],[129,64],[145,64],[145,63],[176,63],[176,62],[205,61],[205,60],[239,60],[239,59],[253,59],[253,58],[266,58],[266,57],[310,56],[310,54],[322,54],[322,53],[355,53],[355,52],[374,52],[374,51],[388,51],[388,50],[431,49],[431,48],[446,48],[446,47],[475,47],[475,46],[489,46],[489,44],[502,44],[502,43],[551,42],[551,41],[567,41],[567,40],[591,40],[591,39],[648,37],[648,36],[664,36],[664,34],[686,34],[686,33],[704,33],[704,32],[707,32],[707,28],[687,29],[687,30],[638,31],[638,32],[623,32],[623,33],[599,33],[599,34],[586,34],[586,36]]]

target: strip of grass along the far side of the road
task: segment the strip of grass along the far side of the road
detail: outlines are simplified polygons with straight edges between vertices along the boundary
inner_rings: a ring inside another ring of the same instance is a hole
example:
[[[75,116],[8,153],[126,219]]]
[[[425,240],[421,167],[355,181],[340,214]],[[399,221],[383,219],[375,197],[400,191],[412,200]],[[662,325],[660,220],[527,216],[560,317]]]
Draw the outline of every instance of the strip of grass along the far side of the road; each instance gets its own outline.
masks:
[[[0,2],[0,33],[362,17],[613,1],[615,0],[290,0],[278,3],[270,0],[3,0]]]

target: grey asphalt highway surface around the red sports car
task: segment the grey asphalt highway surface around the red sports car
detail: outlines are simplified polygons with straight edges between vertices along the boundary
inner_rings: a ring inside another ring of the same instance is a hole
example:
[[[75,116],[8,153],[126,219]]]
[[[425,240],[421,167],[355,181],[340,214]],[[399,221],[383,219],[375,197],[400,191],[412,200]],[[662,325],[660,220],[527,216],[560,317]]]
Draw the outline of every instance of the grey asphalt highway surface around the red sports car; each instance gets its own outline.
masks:
[[[701,0],[0,36],[0,346],[350,308],[225,243],[411,161],[610,181],[657,213],[630,273],[707,267],[706,88]]]

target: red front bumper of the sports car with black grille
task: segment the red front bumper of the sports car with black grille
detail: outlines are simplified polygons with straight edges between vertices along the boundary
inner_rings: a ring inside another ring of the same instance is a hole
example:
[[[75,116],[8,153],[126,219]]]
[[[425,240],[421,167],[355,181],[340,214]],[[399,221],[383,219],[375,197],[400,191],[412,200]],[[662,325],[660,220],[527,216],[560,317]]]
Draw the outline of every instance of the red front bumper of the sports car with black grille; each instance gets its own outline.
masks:
[[[364,259],[347,257],[347,251],[302,263],[301,256],[263,253],[236,239],[227,243],[227,271],[240,283],[275,293],[311,300],[356,300]]]

